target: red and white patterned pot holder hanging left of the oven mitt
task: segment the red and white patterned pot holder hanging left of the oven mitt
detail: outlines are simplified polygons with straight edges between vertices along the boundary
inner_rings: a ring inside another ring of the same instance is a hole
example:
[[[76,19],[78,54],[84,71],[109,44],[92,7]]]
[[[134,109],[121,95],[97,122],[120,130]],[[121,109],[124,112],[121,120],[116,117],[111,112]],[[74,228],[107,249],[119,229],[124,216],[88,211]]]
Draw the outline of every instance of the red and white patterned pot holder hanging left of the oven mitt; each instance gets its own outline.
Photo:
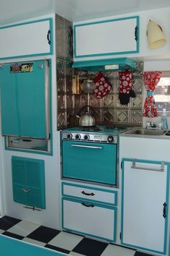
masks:
[[[94,95],[97,98],[103,98],[112,88],[112,85],[109,83],[104,74],[101,71],[98,72],[97,76],[94,78],[94,83],[96,88],[94,89]]]

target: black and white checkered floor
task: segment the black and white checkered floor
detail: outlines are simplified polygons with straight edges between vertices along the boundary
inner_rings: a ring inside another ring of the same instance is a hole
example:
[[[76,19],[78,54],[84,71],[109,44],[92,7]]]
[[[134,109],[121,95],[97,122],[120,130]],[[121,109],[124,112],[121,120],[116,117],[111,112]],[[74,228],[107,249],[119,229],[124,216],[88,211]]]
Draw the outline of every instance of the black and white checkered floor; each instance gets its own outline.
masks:
[[[50,229],[9,216],[0,218],[0,234],[72,256],[149,256],[134,249]]]

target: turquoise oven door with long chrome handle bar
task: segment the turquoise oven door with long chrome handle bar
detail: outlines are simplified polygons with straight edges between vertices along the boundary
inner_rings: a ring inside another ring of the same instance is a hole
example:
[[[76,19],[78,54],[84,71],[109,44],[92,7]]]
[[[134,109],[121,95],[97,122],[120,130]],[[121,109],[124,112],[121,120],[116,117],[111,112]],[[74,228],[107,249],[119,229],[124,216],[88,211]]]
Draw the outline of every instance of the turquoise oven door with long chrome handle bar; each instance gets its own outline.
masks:
[[[116,184],[117,145],[63,140],[63,178]]]

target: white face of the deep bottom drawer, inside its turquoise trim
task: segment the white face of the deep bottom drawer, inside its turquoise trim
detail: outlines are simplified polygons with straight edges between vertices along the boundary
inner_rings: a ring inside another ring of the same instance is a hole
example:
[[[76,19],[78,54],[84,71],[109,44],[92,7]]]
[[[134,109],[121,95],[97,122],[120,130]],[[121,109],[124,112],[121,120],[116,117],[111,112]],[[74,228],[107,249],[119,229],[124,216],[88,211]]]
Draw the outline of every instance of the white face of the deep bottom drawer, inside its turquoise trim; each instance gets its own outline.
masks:
[[[63,229],[114,241],[115,210],[86,201],[83,202],[85,205],[82,205],[82,202],[63,200]]]

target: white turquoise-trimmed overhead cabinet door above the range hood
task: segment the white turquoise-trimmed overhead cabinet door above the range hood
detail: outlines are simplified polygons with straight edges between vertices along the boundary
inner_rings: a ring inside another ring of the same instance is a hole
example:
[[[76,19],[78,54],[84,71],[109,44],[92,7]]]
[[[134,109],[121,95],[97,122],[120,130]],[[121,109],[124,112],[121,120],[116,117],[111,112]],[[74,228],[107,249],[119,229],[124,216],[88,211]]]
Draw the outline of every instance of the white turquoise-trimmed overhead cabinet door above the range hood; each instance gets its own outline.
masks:
[[[74,25],[74,58],[139,52],[139,17]]]

